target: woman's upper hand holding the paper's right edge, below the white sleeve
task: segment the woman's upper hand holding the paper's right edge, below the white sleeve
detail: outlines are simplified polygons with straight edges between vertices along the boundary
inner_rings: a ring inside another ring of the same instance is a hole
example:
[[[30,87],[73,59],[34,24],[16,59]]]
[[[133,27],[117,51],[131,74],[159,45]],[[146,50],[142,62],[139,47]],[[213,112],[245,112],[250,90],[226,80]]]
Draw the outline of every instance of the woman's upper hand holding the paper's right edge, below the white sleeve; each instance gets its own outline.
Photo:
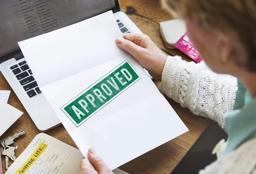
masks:
[[[116,44],[132,54],[155,80],[161,81],[166,54],[145,34],[128,33],[123,37],[118,38]]]

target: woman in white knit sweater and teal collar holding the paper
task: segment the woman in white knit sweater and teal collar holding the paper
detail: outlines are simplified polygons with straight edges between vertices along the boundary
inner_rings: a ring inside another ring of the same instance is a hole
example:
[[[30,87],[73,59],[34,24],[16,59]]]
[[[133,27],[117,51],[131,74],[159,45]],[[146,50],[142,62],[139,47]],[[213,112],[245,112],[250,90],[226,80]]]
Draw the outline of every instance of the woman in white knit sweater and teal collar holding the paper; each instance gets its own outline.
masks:
[[[218,160],[199,174],[256,174],[256,0],[163,0],[163,5],[185,20],[204,62],[166,57],[145,35],[124,34],[117,45],[162,80],[168,97],[227,131],[227,142],[213,151]],[[234,77],[215,74],[205,64]],[[82,160],[80,174],[112,173],[93,149],[88,158],[92,165]]]

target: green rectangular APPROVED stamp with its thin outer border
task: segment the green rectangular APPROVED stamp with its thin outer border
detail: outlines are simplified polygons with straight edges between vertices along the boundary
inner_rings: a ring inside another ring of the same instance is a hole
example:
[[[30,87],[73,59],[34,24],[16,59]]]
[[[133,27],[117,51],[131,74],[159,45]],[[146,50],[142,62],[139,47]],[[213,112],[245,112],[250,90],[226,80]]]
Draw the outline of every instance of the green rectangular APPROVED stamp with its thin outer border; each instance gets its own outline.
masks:
[[[79,127],[140,79],[131,63],[125,60],[62,106],[61,110]]]

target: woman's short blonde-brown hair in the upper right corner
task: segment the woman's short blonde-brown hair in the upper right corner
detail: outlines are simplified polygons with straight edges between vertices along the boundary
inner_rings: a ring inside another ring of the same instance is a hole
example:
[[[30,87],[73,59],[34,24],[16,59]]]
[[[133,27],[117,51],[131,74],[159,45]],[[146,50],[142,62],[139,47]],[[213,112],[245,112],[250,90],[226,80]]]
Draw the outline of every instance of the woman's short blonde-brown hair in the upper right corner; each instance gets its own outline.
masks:
[[[194,18],[203,27],[226,34],[233,52],[244,50],[236,62],[256,72],[256,0],[162,0],[174,17]]]

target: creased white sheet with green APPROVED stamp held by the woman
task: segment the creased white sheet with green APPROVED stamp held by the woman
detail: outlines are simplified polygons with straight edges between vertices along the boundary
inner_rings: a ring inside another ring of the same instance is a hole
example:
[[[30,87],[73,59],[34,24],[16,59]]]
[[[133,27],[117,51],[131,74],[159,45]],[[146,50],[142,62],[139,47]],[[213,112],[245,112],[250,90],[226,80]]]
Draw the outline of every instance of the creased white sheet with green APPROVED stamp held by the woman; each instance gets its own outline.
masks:
[[[118,37],[109,11],[19,43],[82,154],[93,147],[111,169],[188,131]]]

